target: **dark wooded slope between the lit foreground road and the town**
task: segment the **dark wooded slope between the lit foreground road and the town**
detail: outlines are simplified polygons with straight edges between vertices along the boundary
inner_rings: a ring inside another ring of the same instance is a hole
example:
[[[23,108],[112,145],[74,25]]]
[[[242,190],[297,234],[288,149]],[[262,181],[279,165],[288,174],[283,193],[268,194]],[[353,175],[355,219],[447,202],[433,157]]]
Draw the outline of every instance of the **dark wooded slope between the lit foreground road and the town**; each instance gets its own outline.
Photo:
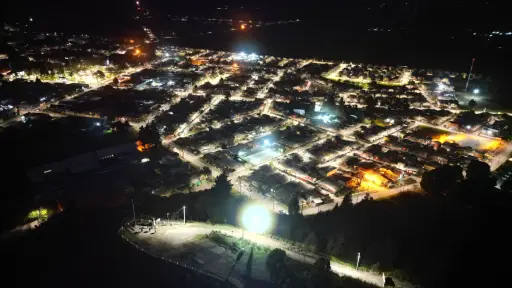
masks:
[[[330,212],[292,217],[289,231],[280,233],[354,265],[359,252],[363,269],[425,287],[488,285],[504,276],[501,262],[510,250],[511,194],[495,184],[483,162],[473,161],[465,176],[445,165],[423,175],[425,194],[345,201]]]

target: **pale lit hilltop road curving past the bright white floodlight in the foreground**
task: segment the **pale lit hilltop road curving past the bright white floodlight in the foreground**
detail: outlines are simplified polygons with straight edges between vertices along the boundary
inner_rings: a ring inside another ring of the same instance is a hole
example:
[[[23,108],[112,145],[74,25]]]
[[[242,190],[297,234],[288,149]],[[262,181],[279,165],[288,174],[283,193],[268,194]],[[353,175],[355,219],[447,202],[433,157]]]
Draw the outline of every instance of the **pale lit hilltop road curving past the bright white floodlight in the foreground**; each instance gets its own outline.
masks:
[[[181,250],[185,244],[190,244],[194,239],[198,239],[201,235],[207,235],[212,231],[221,231],[233,237],[241,237],[242,230],[236,227],[229,226],[213,226],[206,223],[189,223],[179,224],[172,226],[157,226],[154,234],[138,233],[132,234],[136,237],[136,245],[143,248],[150,254],[156,254],[158,257],[168,257],[169,251],[172,249]],[[124,230],[125,233],[131,233]],[[266,235],[256,234],[249,231],[244,231],[244,238],[256,244],[267,246],[271,249],[280,248],[286,252],[286,255],[296,261],[306,264],[313,264],[318,256],[314,254],[303,254],[297,252],[290,244],[272,239]],[[133,237],[132,237],[133,238]],[[354,256],[355,257],[355,256]],[[331,261],[331,270],[340,276],[349,276],[352,278],[360,279],[377,286],[382,286],[382,275],[376,275],[369,272],[358,271],[350,266],[342,265],[338,262]],[[395,283],[398,287],[412,287],[408,283]]]

